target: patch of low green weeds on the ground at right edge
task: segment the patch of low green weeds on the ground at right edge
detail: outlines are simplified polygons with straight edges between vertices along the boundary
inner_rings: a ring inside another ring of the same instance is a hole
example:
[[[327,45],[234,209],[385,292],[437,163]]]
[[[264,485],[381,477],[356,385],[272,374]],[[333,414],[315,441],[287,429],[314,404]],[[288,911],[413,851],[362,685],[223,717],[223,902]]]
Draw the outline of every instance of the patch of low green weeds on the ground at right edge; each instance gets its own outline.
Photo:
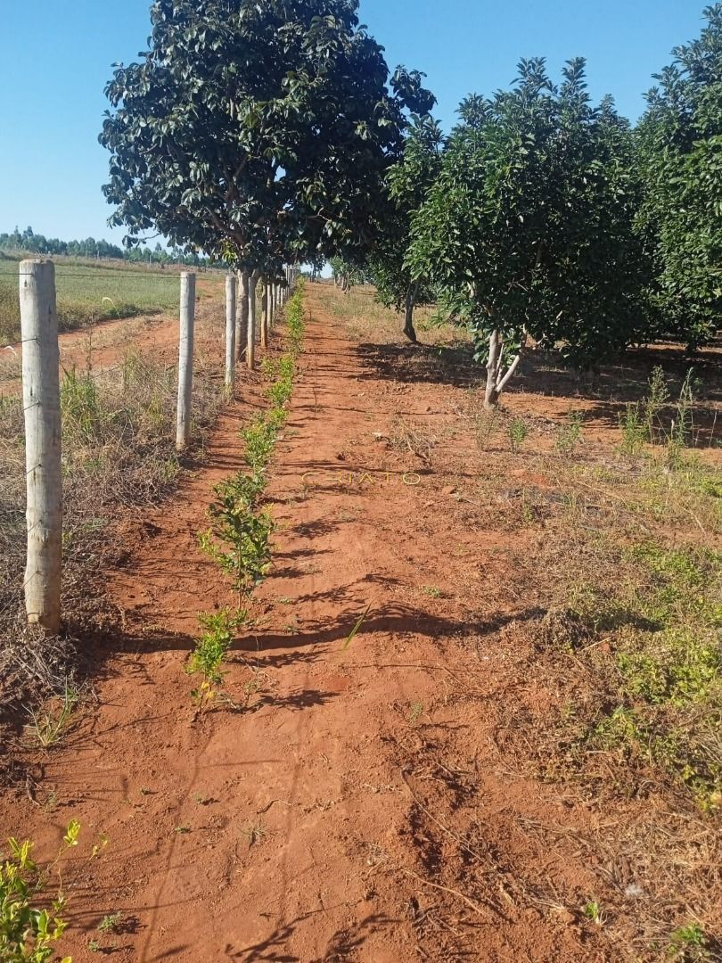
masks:
[[[622,553],[619,589],[590,587],[577,614],[608,708],[581,744],[666,770],[705,811],[722,804],[722,555],[648,542]],[[580,646],[583,649],[583,646]],[[604,654],[601,652],[604,651]],[[581,659],[585,659],[580,653]]]

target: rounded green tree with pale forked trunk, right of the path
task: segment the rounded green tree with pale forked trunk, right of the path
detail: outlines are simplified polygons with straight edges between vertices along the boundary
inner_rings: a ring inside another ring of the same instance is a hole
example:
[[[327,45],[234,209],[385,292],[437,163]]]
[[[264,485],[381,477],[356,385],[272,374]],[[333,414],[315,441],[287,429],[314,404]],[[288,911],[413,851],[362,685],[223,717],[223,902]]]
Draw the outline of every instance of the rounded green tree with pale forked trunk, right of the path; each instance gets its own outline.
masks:
[[[522,61],[511,91],[461,105],[406,265],[447,289],[487,359],[494,406],[529,336],[596,361],[644,336],[632,134],[592,107],[584,61],[555,87]]]

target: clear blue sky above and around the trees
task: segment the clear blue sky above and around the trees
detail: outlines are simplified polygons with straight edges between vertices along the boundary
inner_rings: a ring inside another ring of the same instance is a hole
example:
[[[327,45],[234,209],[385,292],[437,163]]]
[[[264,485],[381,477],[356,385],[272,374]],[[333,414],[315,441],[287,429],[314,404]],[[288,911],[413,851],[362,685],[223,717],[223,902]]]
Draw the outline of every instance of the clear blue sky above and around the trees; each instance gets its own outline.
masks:
[[[390,66],[424,70],[437,116],[453,121],[467,93],[508,86],[521,57],[545,56],[553,75],[588,61],[595,98],[644,109],[651,76],[673,46],[699,34],[706,0],[361,0],[361,19]],[[119,241],[100,187],[103,88],[114,61],[148,35],[149,0],[0,0],[0,231]]]

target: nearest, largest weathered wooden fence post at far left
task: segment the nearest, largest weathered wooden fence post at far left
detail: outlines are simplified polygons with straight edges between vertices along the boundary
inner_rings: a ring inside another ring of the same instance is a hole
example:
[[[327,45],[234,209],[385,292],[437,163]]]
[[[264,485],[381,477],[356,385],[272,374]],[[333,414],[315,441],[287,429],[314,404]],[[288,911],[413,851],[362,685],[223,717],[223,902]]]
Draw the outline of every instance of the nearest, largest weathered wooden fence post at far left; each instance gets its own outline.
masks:
[[[55,265],[21,261],[19,280],[28,533],[25,611],[30,625],[56,634],[61,618],[63,473]]]

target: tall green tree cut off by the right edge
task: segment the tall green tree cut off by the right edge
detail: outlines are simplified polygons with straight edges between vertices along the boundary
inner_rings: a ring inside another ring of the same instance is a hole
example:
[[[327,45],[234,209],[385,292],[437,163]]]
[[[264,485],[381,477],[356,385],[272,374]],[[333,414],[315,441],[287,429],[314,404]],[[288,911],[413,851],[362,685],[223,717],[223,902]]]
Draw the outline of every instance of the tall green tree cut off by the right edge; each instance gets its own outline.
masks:
[[[652,298],[665,333],[690,350],[709,341],[722,314],[722,3],[705,16],[700,38],[656,75],[638,129]]]

